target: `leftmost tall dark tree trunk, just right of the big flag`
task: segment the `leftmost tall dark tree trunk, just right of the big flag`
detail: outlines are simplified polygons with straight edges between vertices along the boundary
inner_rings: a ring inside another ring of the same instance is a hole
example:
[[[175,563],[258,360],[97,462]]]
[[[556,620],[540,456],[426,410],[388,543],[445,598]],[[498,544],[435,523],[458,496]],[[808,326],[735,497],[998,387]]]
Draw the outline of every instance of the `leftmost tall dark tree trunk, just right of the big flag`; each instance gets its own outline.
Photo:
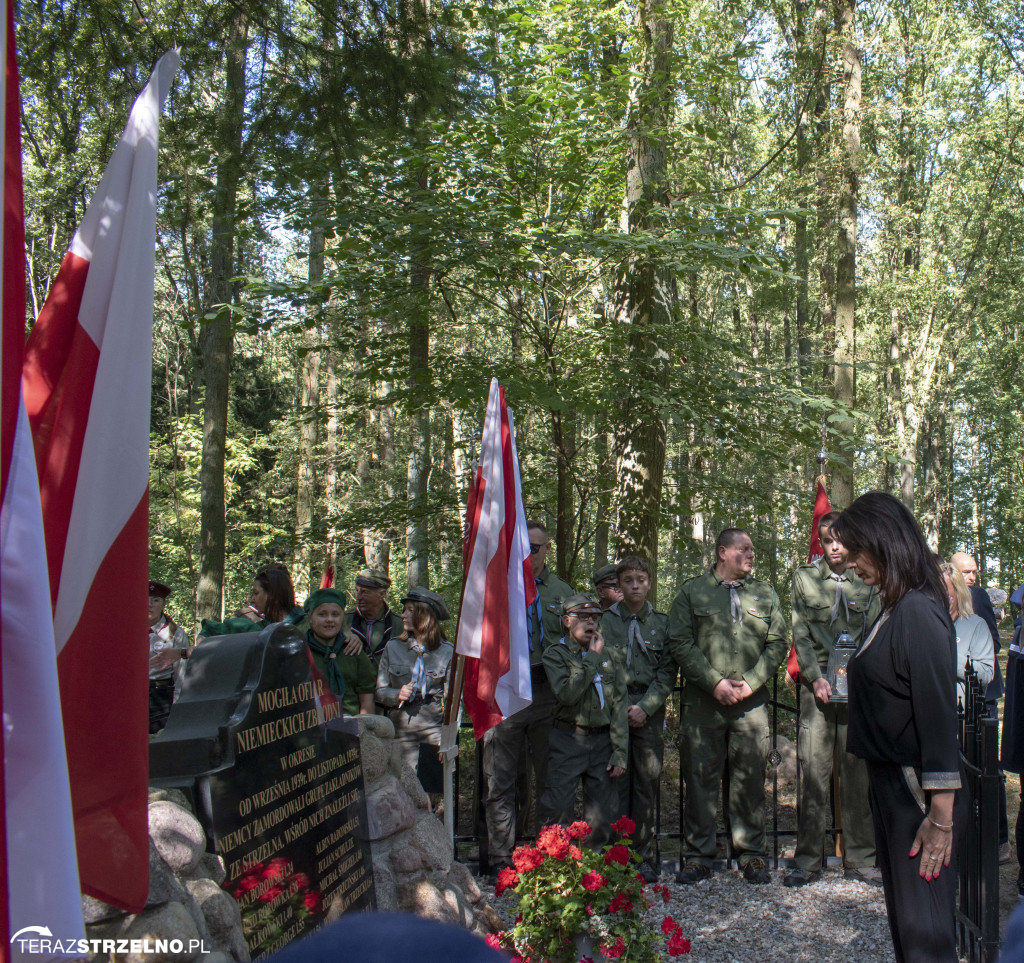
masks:
[[[232,8],[224,50],[224,98],[217,124],[217,190],[213,200],[210,250],[211,300],[216,319],[203,326],[200,351],[206,395],[203,404],[203,460],[200,466],[200,564],[196,608],[199,617],[219,619],[224,584],[224,455],[227,445],[227,393],[234,326],[228,308],[234,300],[234,232],[242,178],[242,133],[246,100],[246,49],[249,27]]]

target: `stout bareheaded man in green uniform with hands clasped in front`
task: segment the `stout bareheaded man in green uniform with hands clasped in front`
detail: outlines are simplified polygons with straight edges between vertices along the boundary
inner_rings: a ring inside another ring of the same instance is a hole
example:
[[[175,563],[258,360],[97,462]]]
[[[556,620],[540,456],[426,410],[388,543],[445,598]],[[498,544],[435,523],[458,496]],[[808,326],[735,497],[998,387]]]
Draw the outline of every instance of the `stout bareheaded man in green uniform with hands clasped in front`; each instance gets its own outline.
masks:
[[[785,620],[775,590],[751,578],[754,543],[725,529],[715,564],[688,579],[669,612],[669,651],[685,687],[679,767],[686,785],[683,856],[676,879],[693,883],[714,872],[715,809],[726,753],[732,847],[743,878],[769,883],[765,868],[766,683],[785,658]]]

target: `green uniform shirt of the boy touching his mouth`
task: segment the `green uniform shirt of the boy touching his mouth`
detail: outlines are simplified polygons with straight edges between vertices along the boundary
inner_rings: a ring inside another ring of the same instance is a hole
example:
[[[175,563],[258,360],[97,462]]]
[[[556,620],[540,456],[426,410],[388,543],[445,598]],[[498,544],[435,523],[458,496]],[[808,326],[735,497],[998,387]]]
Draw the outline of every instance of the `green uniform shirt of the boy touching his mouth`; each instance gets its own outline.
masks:
[[[566,725],[595,728],[610,726],[611,757],[609,765],[626,768],[629,751],[629,708],[626,675],[614,651],[583,651],[571,639],[559,639],[544,647],[544,671],[555,697],[555,719]],[[600,673],[604,705],[594,684]]]

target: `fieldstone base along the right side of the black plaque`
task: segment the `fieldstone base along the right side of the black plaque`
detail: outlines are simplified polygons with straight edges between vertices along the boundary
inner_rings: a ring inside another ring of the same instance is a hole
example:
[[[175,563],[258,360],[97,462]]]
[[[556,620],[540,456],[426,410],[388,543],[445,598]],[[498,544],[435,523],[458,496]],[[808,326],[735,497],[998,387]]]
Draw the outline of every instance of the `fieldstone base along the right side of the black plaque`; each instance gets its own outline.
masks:
[[[427,794],[402,761],[391,720],[356,720],[377,909],[497,932],[501,919],[469,870],[453,859],[443,824],[428,810]]]

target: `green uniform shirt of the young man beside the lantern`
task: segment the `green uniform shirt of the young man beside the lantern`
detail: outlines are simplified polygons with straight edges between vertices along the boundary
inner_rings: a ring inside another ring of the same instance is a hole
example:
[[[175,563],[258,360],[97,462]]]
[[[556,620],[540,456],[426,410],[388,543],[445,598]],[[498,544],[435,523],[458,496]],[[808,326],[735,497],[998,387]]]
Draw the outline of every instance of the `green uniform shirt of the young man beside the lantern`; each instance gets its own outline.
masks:
[[[859,648],[864,633],[882,615],[879,593],[864,585],[850,569],[843,583],[849,620],[841,603],[834,622],[836,582],[830,575],[831,569],[824,558],[800,566],[793,573],[793,643],[797,646],[801,677],[808,684],[821,678],[821,669],[828,664],[833,643],[841,632],[849,632]]]

